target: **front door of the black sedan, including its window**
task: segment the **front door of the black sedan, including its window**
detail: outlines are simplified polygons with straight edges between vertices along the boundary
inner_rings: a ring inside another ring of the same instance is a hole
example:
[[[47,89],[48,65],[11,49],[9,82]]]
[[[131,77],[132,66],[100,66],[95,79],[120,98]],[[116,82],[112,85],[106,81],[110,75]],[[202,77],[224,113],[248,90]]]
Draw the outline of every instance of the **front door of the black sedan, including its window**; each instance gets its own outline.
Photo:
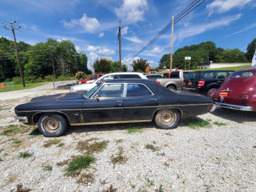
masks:
[[[84,123],[122,121],[124,83],[103,83],[89,98],[84,100]]]

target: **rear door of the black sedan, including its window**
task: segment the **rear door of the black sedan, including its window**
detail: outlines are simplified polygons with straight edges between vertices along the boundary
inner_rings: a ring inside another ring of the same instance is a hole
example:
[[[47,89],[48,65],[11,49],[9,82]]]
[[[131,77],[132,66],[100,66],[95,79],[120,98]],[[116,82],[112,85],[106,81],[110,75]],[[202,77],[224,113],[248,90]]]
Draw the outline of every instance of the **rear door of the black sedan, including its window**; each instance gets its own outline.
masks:
[[[123,103],[123,121],[150,120],[159,106],[159,99],[147,85],[127,83]]]

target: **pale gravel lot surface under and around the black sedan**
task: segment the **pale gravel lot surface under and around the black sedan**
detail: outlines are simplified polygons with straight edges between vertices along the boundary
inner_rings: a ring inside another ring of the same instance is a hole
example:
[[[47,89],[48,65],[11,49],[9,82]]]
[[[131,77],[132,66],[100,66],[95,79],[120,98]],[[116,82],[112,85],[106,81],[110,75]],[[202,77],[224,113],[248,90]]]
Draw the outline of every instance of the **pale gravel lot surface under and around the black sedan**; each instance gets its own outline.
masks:
[[[0,191],[16,191],[19,183],[31,191],[142,192],[161,191],[161,185],[163,191],[256,191],[255,113],[217,108],[198,116],[210,125],[196,129],[187,126],[191,119],[182,119],[173,130],[156,129],[154,123],[77,126],[59,140],[45,138],[36,126],[13,119],[20,103],[60,92],[67,91],[13,91],[9,97],[0,93]],[[19,131],[4,135],[10,125]],[[129,134],[129,126],[141,130]],[[64,161],[83,155],[77,143],[88,139],[89,145],[108,142],[92,154],[96,161],[90,167],[79,175],[65,175]],[[55,143],[45,147],[49,140]],[[57,141],[63,146],[58,147]],[[19,158],[24,152],[31,156]],[[118,155],[122,164],[113,164],[111,158]],[[58,166],[60,162],[64,165]],[[89,179],[78,183],[83,174]]]

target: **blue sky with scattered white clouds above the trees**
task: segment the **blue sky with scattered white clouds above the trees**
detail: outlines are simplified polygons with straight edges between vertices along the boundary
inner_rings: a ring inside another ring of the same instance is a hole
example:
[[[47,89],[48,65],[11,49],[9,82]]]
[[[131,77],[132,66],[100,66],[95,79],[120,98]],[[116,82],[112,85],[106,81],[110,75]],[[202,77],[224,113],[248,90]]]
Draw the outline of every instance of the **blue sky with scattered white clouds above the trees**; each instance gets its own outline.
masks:
[[[121,20],[122,62],[131,69],[133,56],[154,38],[192,0],[0,0],[0,23],[17,21],[17,41],[29,44],[47,38],[69,40],[84,51],[90,63],[106,56],[119,60],[118,27]],[[213,41],[223,49],[246,52],[256,37],[256,0],[206,0],[174,25],[175,50]],[[0,36],[13,39],[10,30]],[[171,52],[171,29],[138,55],[150,67]],[[189,56],[189,55],[188,55]]]

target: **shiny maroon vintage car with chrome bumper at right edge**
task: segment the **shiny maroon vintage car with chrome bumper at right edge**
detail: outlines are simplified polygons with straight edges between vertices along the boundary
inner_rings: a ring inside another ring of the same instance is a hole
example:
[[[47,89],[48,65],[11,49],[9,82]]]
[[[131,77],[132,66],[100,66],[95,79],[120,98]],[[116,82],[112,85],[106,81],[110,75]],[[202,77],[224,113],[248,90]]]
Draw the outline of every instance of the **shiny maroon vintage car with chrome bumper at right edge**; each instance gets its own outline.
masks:
[[[209,97],[220,107],[256,111],[256,67],[235,71]]]

